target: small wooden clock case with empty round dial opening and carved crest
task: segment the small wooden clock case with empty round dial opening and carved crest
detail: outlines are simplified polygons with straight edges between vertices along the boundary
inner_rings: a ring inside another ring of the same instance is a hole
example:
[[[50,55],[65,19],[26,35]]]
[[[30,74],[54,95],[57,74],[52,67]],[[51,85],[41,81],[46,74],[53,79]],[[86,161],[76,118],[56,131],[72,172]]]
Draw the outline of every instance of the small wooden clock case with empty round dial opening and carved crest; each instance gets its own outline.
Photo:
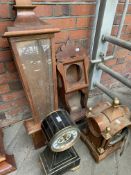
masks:
[[[85,118],[88,98],[89,58],[81,46],[67,41],[56,54],[58,93],[73,121]]]

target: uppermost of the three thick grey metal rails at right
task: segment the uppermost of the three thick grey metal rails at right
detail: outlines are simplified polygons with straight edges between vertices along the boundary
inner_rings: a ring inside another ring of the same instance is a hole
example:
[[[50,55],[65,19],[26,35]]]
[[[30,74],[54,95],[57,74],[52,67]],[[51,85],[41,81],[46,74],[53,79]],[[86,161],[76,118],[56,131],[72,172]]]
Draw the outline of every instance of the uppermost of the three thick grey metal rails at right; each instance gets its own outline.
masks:
[[[131,50],[131,43],[130,42],[124,41],[122,39],[118,39],[114,36],[105,35],[105,36],[102,37],[102,40],[103,41],[108,41],[112,44],[115,44],[115,45],[118,45],[118,46],[123,47],[125,49]]]

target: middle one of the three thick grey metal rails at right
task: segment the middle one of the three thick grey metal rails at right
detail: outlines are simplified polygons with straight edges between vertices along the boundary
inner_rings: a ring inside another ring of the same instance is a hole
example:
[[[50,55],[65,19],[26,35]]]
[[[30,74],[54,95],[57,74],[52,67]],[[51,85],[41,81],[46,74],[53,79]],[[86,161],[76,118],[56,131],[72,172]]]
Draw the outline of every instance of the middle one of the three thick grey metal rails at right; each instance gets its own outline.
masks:
[[[98,68],[101,69],[101,70],[103,70],[104,72],[108,73],[113,78],[117,79],[118,81],[120,81],[121,83],[123,83],[124,85],[126,85],[127,87],[131,88],[131,82],[128,79],[124,78],[119,73],[111,70],[109,67],[105,66],[103,63],[99,63],[98,64]]]

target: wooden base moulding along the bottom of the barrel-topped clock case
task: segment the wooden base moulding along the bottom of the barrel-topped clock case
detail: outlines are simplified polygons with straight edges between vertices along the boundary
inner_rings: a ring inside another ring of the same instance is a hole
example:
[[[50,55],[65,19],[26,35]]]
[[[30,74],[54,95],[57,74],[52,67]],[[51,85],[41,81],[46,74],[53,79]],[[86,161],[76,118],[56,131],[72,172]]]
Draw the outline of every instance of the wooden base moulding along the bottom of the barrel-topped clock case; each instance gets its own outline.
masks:
[[[99,162],[99,161],[105,159],[108,155],[110,155],[111,153],[113,153],[117,149],[120,149],[122,146],[122,141],[121,141],[121,142],[118,142],[117,144],[115,144],[114,146],[106,149],[103,154],[99,154],[97,152],[97,150],[94,148],[94,146],[92,145],[92,143],[90,142],[89,138],[84,133],[81,133],[81,140],[88,146],[88,148],[90,149],[90,152],[91,152],[91,154],[94,157],[96,162]]]

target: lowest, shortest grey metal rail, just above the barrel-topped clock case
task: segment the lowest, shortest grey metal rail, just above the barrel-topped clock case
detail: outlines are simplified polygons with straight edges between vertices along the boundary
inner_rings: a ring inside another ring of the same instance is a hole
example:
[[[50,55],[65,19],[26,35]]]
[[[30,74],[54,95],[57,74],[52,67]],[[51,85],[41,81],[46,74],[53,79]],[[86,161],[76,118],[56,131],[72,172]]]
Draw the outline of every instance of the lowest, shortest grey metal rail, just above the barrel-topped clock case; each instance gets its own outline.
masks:
[[[113,94],[112,92],[110,92],[105,86],[103,86],[100,83],[95,83],[94,86],[96,86],[98,89],[100,89],[102,92],[104,92],[107,96],[109,96],[111,99],[114,100],[114,98],[116,97],[115,94]]]

